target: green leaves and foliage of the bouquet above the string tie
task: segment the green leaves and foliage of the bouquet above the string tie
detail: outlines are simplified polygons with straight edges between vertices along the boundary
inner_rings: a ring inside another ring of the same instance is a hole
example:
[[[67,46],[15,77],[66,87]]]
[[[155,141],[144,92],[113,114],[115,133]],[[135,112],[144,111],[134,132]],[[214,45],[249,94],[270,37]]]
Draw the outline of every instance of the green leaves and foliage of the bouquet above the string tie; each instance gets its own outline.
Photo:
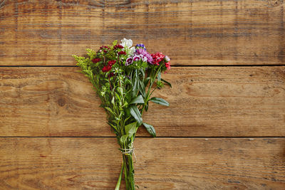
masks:
[[[128,127],[142,124],[142,112],[148,110],[149,101],[169,105],[162,98],[150,97],[155,88],[162,88],[163,83],[167,85],[170,83],[161,78],[161,71],[165,67],[163,64],[149,65],[138,60],[125,66],[128,55],[118,55],[118,51],[122,49],[114,48],[117,43],[118,41],[113,41],[111,46],[100,48],[97,52],[88,48],[87,57],[74,55],[73,58],[98,93],[102,102],[101,107],[104,107],[108,113],[108,124],[121,141],[132,138],[133,134],[129,135]],[[123,51],[129,53],[130,49],[124,48]],[[108,66],[109,61],[115,63],[110,70],[103,72],[103,68]],[[147,72],[145,68],[148,68]],[[154,83],[156,87],[152,88]],[[152,136],[155,136],[155,130],[151,125],[144,124],[144,126]],[[130,132],[136,132],[136,130],[130,130]],[[128,137],[124,136],[126,134]]]

